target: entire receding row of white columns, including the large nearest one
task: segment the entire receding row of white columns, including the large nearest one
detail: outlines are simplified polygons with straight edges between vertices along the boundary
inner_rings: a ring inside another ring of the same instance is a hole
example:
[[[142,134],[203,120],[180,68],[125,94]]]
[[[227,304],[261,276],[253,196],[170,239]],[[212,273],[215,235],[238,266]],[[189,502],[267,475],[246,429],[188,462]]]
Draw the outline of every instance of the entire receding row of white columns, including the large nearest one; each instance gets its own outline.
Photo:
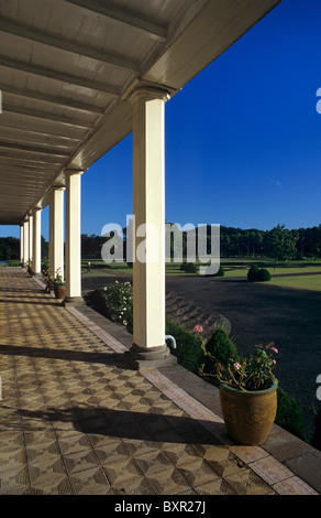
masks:
[[[176,361],[165,342],[165,102],[168,94],[140,87],[128,96],[133,107],[133,213],[135,249],[145,246],[145,261],[133,266],[133,346],[125,354],[136,368]],[[66,287],[67,301],[81,299],[80,175],[66,172]],[[49,269],[64,271],[64,190],[51,191]],[[38,271],[40,216],[33,213],[32,269]],[[145,231],[140,236],[139,228]],[[27,229],[23,235],[27,249]],[[155,229],[157,231],[155,241]],[[144,241],[144,242],[143,242]],[[155,261],[153,247],[157,245]],[[153,260],[152,260],[153,256]],[[26,258],[26,256],[24,256]]]

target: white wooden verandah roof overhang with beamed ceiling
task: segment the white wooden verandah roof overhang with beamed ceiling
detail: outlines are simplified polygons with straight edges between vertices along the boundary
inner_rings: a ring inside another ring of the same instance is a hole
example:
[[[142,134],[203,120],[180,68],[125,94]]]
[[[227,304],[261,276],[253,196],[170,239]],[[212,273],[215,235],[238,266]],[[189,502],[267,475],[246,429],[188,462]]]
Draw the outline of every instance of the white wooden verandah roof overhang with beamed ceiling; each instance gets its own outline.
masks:
[[[132,131],[128,93],[171,96],[280,0],[0,3],[0,224],[19,225]]]

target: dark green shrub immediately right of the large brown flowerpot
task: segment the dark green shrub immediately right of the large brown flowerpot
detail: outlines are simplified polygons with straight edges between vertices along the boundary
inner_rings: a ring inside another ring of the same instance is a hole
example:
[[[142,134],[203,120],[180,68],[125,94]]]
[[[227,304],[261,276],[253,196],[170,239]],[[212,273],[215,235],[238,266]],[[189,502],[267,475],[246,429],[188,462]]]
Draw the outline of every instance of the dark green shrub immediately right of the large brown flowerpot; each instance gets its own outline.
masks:
[[[277,414],[275,422],[297,438],[303,441],[307,440],[303,410],[300,403],[288,396],[280,387],[277,389]]]

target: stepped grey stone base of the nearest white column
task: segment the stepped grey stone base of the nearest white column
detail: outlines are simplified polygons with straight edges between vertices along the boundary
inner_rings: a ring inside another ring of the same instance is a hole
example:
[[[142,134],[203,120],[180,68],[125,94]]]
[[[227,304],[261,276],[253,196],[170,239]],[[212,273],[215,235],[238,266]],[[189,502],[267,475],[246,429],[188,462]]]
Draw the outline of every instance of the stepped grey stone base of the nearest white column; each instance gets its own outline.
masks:
[[[167,345],[144,348],[133,344],[130,350],[124,353],[124,359],[136,370],[168,367],[177,364],[176,356],[170,354]]]

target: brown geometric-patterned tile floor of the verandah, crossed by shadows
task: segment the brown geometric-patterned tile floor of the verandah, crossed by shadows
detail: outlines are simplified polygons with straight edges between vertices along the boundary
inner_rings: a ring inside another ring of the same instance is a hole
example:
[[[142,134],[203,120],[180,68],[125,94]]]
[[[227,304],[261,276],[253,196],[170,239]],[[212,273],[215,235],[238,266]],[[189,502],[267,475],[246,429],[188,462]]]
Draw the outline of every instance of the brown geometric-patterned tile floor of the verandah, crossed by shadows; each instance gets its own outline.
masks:
[[[0,268],[0,494],[316,494],[123,350],[24,270]]]

